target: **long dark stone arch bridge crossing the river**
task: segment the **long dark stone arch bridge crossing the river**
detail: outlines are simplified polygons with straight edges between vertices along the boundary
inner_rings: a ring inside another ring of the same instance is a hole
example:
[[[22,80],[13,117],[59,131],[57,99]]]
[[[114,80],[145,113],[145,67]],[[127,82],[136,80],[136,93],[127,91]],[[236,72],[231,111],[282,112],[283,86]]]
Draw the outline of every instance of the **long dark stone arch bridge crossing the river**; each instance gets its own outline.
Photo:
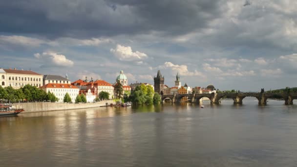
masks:
[[[233,99],[234,104],[242,104],[245,97],[255,97],[258,99],[259,105],[266,105],[267,99],[283,99],[285,105],[292,105],[293,100],[297,99],[297,93],[265,93],[265,92],[239,92],[239,93],[212,93],[212,94],[173,94],[161,96],[161,102],[170,99],[172,103],[180,103],[183,97],[188,97],[191,103],[199,103],[200,99],[207,97],[211,104],[219,104],[222,98]]]

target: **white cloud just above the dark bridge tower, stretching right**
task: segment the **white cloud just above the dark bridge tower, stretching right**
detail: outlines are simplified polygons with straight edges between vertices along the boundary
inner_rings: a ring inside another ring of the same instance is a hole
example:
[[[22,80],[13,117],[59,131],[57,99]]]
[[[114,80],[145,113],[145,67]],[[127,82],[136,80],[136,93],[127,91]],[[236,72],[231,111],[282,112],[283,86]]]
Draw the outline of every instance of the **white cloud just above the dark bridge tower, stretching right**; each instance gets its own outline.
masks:
[[[190,72],[188,70],[187,65],[177,65],[173,64],[171,62],[165,62],[164,65],[160,66],[161,68],[170,68],[174,73],[179,72],[181,76],[204,76],[201,72],[198,72],[197,70]]]

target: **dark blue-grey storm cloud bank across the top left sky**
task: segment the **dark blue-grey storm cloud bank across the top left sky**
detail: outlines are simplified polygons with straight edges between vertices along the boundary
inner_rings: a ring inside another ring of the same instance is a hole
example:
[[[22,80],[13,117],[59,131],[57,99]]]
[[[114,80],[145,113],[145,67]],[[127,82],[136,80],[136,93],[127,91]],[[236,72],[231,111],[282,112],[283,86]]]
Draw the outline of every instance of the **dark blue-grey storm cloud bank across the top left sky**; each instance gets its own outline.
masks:
[[[180,35],[207,27],[221,12],[219,0],[0,0],[0,32],[47,38]]]

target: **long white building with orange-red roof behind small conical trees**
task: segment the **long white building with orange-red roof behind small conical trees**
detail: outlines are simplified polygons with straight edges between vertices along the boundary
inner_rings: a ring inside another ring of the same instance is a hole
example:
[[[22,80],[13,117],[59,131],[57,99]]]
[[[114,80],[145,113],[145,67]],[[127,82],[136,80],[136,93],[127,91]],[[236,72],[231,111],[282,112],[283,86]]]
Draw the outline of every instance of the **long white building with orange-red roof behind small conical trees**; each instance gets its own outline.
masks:
[[[40,87],[46,93],[49,91],[53,93],[57,98],[58,102],[63,102],[66,93],[69,94],[71,101],[75,103],[76,96],[79,94],[79,88],[71,84],[45,84]]]

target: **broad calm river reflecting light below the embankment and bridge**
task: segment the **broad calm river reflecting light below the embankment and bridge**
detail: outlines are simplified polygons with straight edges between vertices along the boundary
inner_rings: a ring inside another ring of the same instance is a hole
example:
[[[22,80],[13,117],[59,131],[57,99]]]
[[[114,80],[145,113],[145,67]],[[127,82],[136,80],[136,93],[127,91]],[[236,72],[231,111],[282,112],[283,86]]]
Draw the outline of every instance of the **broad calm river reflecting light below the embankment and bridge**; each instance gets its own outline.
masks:
[[[204,102],[0,118],[0,167],[296,167],[297,105]]]

